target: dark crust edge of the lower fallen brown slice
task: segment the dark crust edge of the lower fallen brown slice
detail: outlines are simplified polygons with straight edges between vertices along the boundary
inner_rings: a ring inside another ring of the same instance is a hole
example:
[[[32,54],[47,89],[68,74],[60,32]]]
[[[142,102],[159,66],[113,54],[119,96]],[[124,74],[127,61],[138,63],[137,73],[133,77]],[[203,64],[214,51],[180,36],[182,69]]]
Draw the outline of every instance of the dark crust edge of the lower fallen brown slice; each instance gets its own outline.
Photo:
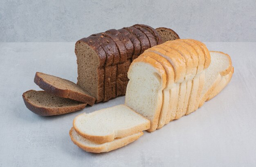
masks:
[[[61,108],[45,108],[45,107],[40,107],[36,104],[31,103],[31,101],[26,97],[26,94],[31,91],[36,91],[36,90],[28,90],[27,92],[24,92],[22,94],[23,101],[26,105],[26,107],[34,112],[35,114],[41,115],[41,116],[52,116],[52,115],[61,115],[61,114],[67,114],[70,112],[82,110],[85,108],[86,104],[85,103],[79,103],[75,106],[67,106],[67,107],[61,107]],[[45,92],[45,91],[40,91],[40,92]],[[61,97],[60,97],[61,98]]]

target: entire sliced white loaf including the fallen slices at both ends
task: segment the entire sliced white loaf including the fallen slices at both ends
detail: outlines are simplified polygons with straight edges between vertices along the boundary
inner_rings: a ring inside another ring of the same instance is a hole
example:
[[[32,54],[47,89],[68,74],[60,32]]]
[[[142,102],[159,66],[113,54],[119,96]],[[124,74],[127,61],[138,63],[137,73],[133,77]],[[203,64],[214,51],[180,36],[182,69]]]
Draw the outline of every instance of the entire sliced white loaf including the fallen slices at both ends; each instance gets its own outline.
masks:
[[[130,65],[125,104],[76,116],[71,139],[88,152],[127,145],[142,130],[153,132],[197,110],[229,83],[233,73],[229,55],[208,51],[197,40],[149,48]]]

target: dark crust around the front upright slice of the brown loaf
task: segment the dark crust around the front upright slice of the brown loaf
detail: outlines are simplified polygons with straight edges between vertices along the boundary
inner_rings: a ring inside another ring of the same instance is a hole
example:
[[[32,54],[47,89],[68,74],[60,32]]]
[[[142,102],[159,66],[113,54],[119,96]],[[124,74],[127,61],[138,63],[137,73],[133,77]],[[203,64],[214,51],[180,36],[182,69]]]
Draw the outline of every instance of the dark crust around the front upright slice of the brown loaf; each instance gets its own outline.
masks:
[[[80,42],[84,42],[86,44],[88,44],[88,46],[90,46],[96,53],[97,55],[99,55],[99,67],[97,70],[97,76],[98,76],[98,94],[96,98],[96,103],[103,101],[104,99],[104,82],[105,82],[105,70],[104,70],[104,65],[106,62],[106,52],[103,50],[103,48],[101,47],[101,45],[97,42],[99,40],[99,37],[97,36],[90,36],[87,38],[82,38],[81,40],[77,41],[75,44],[75,54],[76,56],[78,56],[76,47],[78,46],[78,44]],[[78,64],[79,62],[77,62]],[[79,74],[79,73],[78,73]],[[77,84],[80,85],[79,83],[79,75],[77,77]]]

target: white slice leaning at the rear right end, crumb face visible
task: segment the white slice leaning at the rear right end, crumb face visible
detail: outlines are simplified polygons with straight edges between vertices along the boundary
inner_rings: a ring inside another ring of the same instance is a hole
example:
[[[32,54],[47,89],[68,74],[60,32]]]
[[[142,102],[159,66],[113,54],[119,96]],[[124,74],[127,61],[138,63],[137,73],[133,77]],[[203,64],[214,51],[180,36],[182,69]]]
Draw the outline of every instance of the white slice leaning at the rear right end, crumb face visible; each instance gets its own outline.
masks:
[[[204,88],[202,90],[199,107],[207,100],[212,91],[216,88],[222,76],[230,73],[232,62],[229,55],[223,52],[211,51],[211,64],[205,70]]]

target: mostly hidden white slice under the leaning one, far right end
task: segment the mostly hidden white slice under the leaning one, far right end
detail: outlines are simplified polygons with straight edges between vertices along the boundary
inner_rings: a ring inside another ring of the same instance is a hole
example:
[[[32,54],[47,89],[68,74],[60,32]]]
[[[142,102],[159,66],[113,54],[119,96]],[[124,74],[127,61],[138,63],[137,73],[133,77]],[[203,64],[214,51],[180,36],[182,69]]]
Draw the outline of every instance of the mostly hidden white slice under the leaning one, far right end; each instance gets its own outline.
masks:
[[[206,101],[211,100],[213,97],[215,97],[217,94],[219,94],[229,83],[234,73],[234,67],[231,68],[231,71],[228,75],[225,75],[221,78],[218,85],[213,89],[212,93],[209,95]]]

